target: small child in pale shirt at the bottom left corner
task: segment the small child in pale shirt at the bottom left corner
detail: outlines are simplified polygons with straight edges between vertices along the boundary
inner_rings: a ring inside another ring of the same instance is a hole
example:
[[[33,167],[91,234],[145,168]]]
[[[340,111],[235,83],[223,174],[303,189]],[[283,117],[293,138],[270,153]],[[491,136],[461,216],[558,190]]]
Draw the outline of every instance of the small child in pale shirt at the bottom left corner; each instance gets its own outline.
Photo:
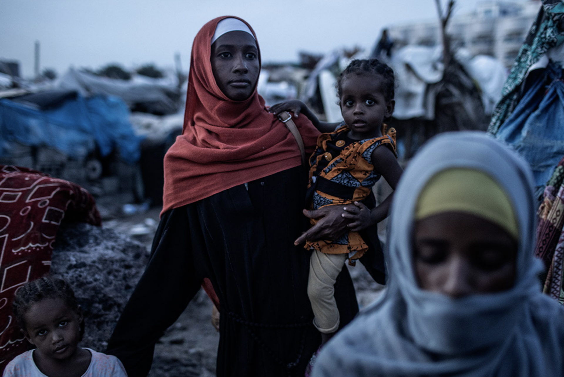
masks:
[[[42,277],[16,293],[14,314],[25,339],[36,349],[16,356],[3,377],[126,377],[115,357],[78,347],[82,310],[69,284]]]

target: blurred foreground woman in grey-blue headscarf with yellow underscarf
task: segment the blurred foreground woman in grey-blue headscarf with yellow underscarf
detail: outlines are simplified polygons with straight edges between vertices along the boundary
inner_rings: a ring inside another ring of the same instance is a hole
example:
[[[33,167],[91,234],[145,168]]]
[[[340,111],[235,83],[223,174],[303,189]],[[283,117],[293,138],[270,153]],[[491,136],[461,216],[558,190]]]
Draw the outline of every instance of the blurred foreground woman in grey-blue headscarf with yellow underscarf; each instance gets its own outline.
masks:
[[[381,299],[313,376],[562,376],[564,308],[541,294],[530,168],[481,132],[442,134],[396,190]]]

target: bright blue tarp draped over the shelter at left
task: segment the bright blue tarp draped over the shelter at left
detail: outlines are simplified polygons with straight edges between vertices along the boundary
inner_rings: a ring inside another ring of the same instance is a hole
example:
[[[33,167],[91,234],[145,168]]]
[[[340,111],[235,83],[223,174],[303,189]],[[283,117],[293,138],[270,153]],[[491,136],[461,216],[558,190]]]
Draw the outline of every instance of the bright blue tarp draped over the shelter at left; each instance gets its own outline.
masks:
[[[140,157],[142,138],[135,135],[129,108],[119,97],[78,95],[48,110],[0,100],[0,157],[9,156],[14,141],[55,148],[76,159],[96,147],[102,156],[117,148],[125,162],[133,163]]]

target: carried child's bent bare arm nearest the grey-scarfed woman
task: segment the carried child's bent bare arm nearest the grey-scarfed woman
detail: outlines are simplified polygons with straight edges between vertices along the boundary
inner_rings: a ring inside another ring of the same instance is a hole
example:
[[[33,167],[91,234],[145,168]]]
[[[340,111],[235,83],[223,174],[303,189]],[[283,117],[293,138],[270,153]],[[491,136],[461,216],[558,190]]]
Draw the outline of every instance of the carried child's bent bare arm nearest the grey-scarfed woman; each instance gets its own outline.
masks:
[[[372,152],[372,161],[374,170],[379,171],[390,187],[395,190],[399,178],[402,176],[403,169],[399,166],[394,153],[389,148],[381,145]],[[351,220],[349,224],[350,230],[359,232],[362,229],[380,223],[380,221],[386,218],[393,197],[394,193],[391,193],[380,205],[372,210],[369,210],[363,203],[354,202],[354,205],[343,208],[346,212],[342,216]]]

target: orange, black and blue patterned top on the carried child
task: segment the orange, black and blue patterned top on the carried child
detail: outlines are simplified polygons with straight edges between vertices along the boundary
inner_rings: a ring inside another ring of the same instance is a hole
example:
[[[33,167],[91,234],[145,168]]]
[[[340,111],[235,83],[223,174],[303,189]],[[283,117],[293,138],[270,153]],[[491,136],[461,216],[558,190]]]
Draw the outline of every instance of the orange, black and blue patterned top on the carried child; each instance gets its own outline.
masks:
[[[318,138],[310,157],[311,209],[364,200],[381,176],[372,165],[374,149],[386,145],[397,157],[394,128],[387,130],[387,125],[382,124],[381,132],[385,136],[358,141],[347,138],[349,130],[345,125]],[[315,225],[316,220],[311,219],[310,223]],[[336,241],[307,241],[304,247],[327,254],[349,253],[350,260],[359,259],[368,250],[368,245],[356,232],[349,232]]]

